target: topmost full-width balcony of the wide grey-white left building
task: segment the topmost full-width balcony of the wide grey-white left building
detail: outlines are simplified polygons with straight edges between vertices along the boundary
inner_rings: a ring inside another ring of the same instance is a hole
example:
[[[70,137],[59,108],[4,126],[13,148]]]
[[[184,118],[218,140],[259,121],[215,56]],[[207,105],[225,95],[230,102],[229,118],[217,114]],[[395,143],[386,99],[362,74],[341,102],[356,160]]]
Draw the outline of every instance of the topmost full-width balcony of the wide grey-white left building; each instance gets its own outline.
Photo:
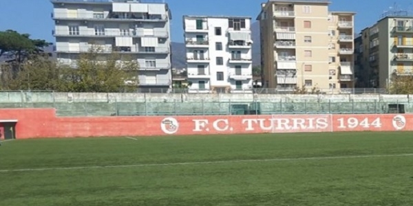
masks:
[[[127,15],[118,14],[116,12],[112,12],[109,14],[105,13],[96,13],[92,11],[84,11],[84,12],[52,12],[50,15],[54,20],[89,20],[89,21],[167,21],[168,16],[165,14],[158,15],[158,14],[133,14],[129,13]]]

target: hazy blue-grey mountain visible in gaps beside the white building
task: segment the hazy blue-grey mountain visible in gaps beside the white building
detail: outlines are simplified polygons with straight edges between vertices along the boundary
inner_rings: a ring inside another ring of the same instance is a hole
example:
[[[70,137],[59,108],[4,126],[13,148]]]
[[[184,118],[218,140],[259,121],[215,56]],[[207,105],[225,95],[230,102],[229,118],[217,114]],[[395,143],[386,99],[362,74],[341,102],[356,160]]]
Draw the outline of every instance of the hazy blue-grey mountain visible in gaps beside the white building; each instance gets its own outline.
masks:
[[[251,37],[253,39],[253,65],[261,64],[261,46],[260,46],[260,23],[256,21],[251,24]],[[185,68],[186,67],[186,51],[184,43],[171,43],[172,53],[172,67],[173,68]]]

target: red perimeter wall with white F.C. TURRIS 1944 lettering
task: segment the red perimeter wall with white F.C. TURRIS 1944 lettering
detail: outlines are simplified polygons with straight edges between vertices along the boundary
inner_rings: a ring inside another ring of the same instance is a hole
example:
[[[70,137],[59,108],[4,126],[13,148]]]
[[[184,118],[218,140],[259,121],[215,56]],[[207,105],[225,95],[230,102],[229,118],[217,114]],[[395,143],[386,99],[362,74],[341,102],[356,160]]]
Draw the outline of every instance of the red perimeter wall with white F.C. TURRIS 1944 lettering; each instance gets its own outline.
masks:
[[[19,121],[18,139],[413,130],[410,114],[56,117],[54,108],[0,109],[5,119]]]

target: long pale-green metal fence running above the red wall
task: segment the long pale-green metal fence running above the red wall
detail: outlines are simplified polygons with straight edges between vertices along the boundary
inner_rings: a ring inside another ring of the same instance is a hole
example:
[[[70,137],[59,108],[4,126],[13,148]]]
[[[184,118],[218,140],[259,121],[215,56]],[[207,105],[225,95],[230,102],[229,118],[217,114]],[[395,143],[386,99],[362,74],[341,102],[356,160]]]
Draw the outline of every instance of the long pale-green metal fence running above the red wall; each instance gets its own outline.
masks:
[[[394,110],[394,105],[403,109]],[[364,102],[331,100],[56,100],[56,102],[1,102],[0,108],[56,108],[59,116],[165,116],[165,115],[277,115],[277,114],[379,114],[409,113],[413,101]]]

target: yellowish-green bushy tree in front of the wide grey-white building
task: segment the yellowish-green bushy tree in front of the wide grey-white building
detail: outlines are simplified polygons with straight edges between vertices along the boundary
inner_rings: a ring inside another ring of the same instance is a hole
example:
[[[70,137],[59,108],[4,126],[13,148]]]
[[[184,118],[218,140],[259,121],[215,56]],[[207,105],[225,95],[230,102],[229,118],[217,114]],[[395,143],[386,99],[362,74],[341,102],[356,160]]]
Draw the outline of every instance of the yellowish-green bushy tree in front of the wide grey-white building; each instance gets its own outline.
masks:
[[[77,68],[61,66],[63,90],[72,92],[136,91],[138,62],[126,54],[102,54],[99,47],[79,56]]]

